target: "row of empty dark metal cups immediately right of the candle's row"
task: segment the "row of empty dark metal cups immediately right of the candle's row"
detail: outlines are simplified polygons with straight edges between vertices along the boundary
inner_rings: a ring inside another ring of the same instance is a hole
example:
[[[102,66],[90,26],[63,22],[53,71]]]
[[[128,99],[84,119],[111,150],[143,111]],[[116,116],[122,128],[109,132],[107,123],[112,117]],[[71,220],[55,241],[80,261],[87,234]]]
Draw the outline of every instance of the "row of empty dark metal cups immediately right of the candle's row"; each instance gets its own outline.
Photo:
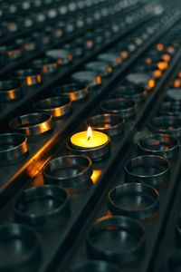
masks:
[[[176,91],[179,92],[178,89],[175,89]],[[159,110],[158,112],[160,114]],[[117,186],[111,188],[108,193],[106,206],[109,216],[102,201],[99,214],[103,213],[105,216],[97,219],[90,227],[87,226],[86,236],[81,234],[81,246],[74,249],[79,252],[74,252],[75,260],[79,259],[81,263],[75,264],[68,271],[116,272],[120,267],[121,271],[128,271],[128,267],[131,271],[140,271],[140,263],[150,243],[148,236],[152,237],[149,224],[157,224],[161,212],[159,206],[162,210],[165,205],[163,198],[164,195],[167,198],[167,190],[171,183],[170,174],[176,166],[180,147],[181,121],[179,125],[177,123],[177,127],[169,121],[164,124],[159,122],[160,125],[157,126],[156,119],[157,117],[149,122],[147,135],[138,140],[137,151],[130,154],[131,159],[125,163],[124,173],[122,170],[117,173]],[[94,218],[99,216],[96,211],[94,214]],[[177,232],[180,232],[180,220]],[[81,248],[87,251],[83,257]],[[178,258],[179,254],[175,257],[177,264]],[[72,260],[74,262],[73,257]],[[171,263],[169,265],[172,267]],[[66,268],[70,266],[67,264]]]

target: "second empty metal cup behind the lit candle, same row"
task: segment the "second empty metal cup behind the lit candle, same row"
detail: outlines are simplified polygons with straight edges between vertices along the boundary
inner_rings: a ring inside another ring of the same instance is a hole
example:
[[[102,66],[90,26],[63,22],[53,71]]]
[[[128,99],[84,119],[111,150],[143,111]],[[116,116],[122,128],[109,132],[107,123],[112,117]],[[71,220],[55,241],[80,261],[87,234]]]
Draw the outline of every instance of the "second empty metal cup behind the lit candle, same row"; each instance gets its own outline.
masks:
[[[101,104],[103,112],[119,114],[123,118],[136,115],[137,108],[138,105],[136,102],[125,98],[109,99]]]

